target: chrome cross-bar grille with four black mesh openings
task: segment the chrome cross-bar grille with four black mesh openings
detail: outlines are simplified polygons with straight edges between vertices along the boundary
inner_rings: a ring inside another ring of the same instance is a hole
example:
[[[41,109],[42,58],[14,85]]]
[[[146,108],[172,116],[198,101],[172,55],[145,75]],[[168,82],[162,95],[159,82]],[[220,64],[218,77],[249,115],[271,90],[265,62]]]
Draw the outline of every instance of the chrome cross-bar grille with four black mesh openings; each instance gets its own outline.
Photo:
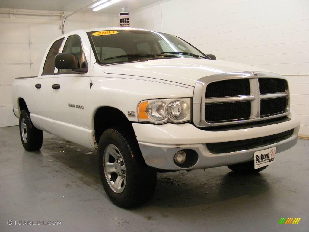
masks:
[[[223,73],[197,81],[193,121],[198,127],[239,124],[289,114],[288,84],[280,75]]]

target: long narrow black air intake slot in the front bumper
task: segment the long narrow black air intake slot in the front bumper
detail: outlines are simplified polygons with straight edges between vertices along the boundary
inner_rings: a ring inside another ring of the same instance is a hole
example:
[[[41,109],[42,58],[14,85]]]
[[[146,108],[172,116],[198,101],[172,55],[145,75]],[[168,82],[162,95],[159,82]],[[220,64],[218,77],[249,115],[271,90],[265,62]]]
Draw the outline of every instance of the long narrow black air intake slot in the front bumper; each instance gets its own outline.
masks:
[[[285,131],[275,135],[264,136],[255,139],[247,139],[240,141],[230,141],[222,143],[209,143],[206,144],[208,150],[213,154],[229,153],[242,150],[248,150],[258,147],[267,146],[290,138],[293,135],[294,129]]]

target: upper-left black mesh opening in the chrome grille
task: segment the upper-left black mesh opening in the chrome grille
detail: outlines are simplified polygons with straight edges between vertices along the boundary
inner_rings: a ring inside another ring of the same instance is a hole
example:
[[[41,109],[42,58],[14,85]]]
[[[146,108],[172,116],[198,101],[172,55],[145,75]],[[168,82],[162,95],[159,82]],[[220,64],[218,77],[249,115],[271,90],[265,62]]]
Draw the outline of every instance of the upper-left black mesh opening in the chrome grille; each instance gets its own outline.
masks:
[[[249,79],[232,79],[208,84],[205,97],[232,97],[249,94]]]

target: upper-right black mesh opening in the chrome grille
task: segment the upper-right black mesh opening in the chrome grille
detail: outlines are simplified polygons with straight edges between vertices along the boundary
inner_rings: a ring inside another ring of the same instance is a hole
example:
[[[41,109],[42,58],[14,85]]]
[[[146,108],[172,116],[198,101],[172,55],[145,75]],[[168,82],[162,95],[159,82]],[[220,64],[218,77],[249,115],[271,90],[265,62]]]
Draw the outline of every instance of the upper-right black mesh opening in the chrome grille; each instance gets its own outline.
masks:
[[[259,78],[260,93],[278,93],[285,92],[287,83],[284,79],[277,78]]]

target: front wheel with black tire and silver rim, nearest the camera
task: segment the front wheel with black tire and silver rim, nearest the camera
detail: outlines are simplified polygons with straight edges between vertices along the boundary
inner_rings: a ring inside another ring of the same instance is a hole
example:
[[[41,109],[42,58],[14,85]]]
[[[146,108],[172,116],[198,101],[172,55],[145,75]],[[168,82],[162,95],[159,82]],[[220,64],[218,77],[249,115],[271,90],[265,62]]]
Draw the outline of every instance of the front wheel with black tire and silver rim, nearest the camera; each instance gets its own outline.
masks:
[[[99,140],[98,164],[109,199],[122,208],[138,206],[155,192],[157,173],[149,168],[133,136],[119,128],[104,131]]]

